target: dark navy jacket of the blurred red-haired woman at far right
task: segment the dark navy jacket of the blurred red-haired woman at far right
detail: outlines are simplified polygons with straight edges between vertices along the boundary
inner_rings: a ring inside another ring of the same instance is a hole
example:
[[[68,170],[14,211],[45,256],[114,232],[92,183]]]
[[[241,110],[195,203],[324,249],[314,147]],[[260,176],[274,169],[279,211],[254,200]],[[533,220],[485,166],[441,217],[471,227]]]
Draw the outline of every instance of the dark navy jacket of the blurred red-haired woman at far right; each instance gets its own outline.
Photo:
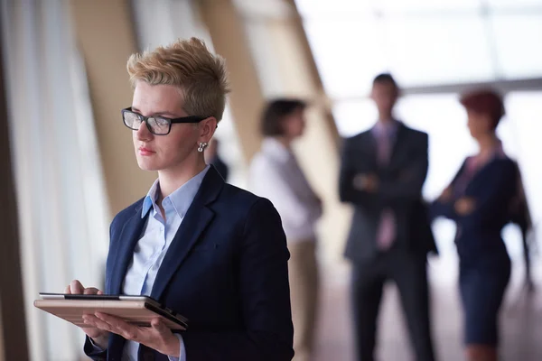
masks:
[[[453,178],[451,186],[462,174],[466,162]],[[477,262],[484,256],[507,255],[500,231],[512,218],[510,206],[518,191],[518,168],[509,158],[496,158],[474,174],[466,189],[449,201],[436,200],[431,218],[450,218],[457,224],[455,243],[463,263]],[[474,199],[475,208],[469,215],[455,212],[455,200]]]

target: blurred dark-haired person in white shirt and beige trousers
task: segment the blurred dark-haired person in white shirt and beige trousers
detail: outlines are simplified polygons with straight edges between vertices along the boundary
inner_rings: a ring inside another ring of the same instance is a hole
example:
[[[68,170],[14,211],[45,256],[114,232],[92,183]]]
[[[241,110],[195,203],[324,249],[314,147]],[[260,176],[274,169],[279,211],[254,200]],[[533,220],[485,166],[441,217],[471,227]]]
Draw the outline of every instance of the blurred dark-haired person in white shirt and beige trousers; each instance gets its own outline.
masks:
[[[273,202],[285,229],[295,361],[309,361],[313,355],[319,290],[315,224],[322,216],[322,201],[292,151],[294,140],[304,134],[305,107],[298,99],[276,99],[267,104],[261,118],[265,138],[249,172],[250,189]]]

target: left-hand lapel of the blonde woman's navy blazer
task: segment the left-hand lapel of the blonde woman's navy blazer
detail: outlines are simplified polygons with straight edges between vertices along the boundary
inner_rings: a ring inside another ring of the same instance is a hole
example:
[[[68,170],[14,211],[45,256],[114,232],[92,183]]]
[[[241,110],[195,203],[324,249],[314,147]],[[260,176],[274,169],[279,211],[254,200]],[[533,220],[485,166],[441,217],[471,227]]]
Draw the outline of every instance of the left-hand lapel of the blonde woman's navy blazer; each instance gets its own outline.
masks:
[[[128,219],[125,226],[122,228],[118,242],[117,252],[115,253],[116,262],[111,274],[111,282],[106,290],[108,294],[120,294],[121,285],[128,269],[128,264],[134,255],[134,248],[139,240],[139,236],[143,232],[146,219],[141,218],[141,206],[135,208],[135,214]]]

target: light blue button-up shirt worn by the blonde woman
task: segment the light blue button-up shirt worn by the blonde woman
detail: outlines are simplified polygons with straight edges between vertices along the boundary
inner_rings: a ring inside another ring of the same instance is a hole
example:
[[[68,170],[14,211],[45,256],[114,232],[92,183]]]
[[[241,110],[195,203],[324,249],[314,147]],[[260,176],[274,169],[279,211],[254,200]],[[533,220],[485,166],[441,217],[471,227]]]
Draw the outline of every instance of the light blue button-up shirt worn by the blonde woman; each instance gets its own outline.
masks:
[[[122,292],[128,295],[149,296],[153,290],[154,280],[158,269],[164,261],[169,246],[172,244],[173,237],[181,226],[182,219],[186,215],[192,200],[200,189],[201,181],[209,171],[207,165],[203,171],[188,180],[181,188],[175,190],[172,194],[165,197],[162,201],[164,207],[165,219],[156,199],[160,191],[160,183],[154,181],[153,186],[147,193],[143,201],[141,218],[144,218],[150,211],[147,218],[145,230],[135,245],[132,261],[128,266],[126,277],[124,279]],[[181,311],[182,310],[178,310]],[[180,358],[169,357],[172,361],[186,361],[186,350],[182,341],[182,336],[175,334],[181,342]],[[139,344],[134,341],[126,341],[123,351],[123,361],[137,361],[137,351]]]

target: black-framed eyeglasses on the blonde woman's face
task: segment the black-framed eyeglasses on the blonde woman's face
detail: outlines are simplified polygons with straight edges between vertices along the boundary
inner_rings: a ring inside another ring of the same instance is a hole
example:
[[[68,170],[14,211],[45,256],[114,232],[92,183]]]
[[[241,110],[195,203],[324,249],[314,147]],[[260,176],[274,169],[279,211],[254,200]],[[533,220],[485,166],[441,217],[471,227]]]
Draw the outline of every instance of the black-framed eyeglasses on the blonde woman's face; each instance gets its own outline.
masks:
[[[209,116],[182,116],[180,118],[166,118],[164,116],[142,116],[139,113],[132,111],[132,107],[122,109],[122,120],[124,124],[132,129],[139,130],[143,122],[147,126],[149,132],[154,135],[167,135],[172,130],[174,123],[200,123],[203,119]]]

